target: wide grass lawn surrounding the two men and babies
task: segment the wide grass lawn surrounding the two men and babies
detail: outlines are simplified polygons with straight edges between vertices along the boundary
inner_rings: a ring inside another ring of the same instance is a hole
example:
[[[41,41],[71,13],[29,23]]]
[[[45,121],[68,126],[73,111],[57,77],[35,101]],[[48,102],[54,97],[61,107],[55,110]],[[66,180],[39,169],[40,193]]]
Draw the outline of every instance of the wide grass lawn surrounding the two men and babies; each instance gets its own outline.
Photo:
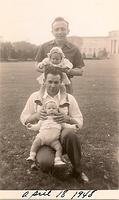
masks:
[[[74,96],[84,116],[82,164],[88,184],[74,178],[59,180],[29,171],[25,161],[33,133],[19,116],[29,95],[38,90],[39,75],[32,62],[0,66],[0,189],[117,189],[118,188],[118,65],[114,60],[87,60],[82,77],[73,79]]]

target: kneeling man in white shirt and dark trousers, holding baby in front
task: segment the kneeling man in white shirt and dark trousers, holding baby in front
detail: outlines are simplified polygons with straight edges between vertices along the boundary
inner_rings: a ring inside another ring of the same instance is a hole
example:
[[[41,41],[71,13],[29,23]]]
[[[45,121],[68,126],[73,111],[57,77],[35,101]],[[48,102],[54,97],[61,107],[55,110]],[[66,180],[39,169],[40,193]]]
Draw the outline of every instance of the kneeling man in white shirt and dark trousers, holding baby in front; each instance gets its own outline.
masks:
[[[59,107],[59,112],[53,116],[53,120],[58,124],[78,124],[78,128],[64,127],[61,130],[60,142],[62,146],[62,153],[67,154],[71,164],[73,166],[73,175],[78,180],[84,180],[88,182],[88,178],[82,172],[81,169],[81,148],[79,132],[83,125],[83,116],[79,109],[78,103],[75,98],[67,94],[62,89],[62,72],[52,66],[48,66],[44,74],[44,86],[42,89],[33,93],[21,114],[21,122],[28,127],[28,124],[35,124],[39,120],[46,120],[47,113],[42,110],[43,101],[53,100]],[[36,102],[40,101],[40,104]],[[51,147],[43,146],[39,152],[40,159],[38,159],[39,165],[43,171],[45,166],[48,169],[52,168],[54,162],[52,162],[54,152]],[[51,156],[49,156],[51,155]],[[37,156],[36,156],[37,157]]]

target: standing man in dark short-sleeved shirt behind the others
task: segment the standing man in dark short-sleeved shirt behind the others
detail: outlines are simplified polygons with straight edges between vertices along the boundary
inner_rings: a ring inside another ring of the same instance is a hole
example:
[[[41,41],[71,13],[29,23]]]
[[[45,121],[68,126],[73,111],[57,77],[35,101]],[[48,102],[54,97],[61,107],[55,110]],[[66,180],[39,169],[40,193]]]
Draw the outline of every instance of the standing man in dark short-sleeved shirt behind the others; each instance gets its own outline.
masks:
[[[54,40],[42,44],[36,55],[36,68],[39,62],[47,57],[53,47],[60,47],[65,57],[73,64],[73,68],[66,71],[69,79],[73,76],[82,76],[84,62],[79,49],[67,40],[69,33],[69,23],[62,17],[57,17],[52,23],[52,34]],[[68,93],[72,93],[72,85],[66,88]]]

